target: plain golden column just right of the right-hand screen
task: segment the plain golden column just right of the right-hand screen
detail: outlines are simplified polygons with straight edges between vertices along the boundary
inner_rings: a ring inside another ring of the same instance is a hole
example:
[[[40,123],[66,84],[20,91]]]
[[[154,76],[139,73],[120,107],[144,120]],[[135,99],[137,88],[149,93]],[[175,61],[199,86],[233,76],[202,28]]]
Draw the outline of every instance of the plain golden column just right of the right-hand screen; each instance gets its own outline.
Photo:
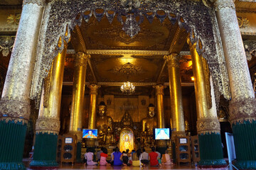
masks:
[[[169,88],[171,98],[171,138],[186,136],[184,114],[183,114],[183,103],[181,93],[181,74],[179,69],[179,58],[178,54],[171,54],[164,56],[164,59],[168,64],[169,71]]]

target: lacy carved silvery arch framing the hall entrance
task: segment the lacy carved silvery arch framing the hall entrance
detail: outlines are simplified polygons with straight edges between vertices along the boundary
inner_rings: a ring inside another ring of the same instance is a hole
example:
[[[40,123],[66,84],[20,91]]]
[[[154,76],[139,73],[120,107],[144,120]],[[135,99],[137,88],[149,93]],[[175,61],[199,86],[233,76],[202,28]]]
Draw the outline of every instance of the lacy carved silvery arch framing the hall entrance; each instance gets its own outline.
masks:
[[[82,19],[89,21],[92,15],[98,21],[103,16],[107,16],[110,23],[117,16],[119,22],[124,26],[124,31],[130,36],[137,33],[139,24],[144,19],[148,19],[150,22],[154,17],[159,18],[159,21],[168,18],[171,23],[178,22],[179,27],[185,28],[190,35],[195,35],[190,37],[192,43],[199,40],[202,43],[203,48],[197,47],[197,50],[208,61],[210,72],[213,75],[216,98],[220,94],[223,94],[225,98],[230,98],[228,74],[213,8],[205,6],[202,1],[145,0],[133,6],[127,6],[125,1],[53,0],[46,4],[38,42],[38,58],[33,76],[31,98],[36,98],[40,94],[42,81],[48,74],[53,58],[63,50],[63,45],[57,47],[58,38],[61,37],[62,40],[68,41],[70,31],[76,25],[80,26]],[[101,8],[103,12],[97,13],[95,11],[97,8]],[[90,12],[85,15],[85,11]],[[164,11],[164,14],[160,15],[157,11]],[[79,18],[77,18],[78,14],[80,14]],[[125,21],[122,20],[122,16],[126,17]],[[135,17],[139,20],[135,20]],[[129,30],[126,25],[132,25],[134,30]],[[67,28],[68,35],[65,36]]]

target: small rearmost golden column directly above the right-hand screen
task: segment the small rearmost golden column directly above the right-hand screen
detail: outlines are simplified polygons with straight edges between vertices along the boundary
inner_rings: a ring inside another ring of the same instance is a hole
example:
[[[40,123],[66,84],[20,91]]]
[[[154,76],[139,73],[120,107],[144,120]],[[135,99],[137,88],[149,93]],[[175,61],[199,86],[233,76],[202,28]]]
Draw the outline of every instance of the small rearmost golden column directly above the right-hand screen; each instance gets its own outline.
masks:
[[[164,128],[164,89],[166,86],[159,84],[154,88],[156,89],[157,128]]]

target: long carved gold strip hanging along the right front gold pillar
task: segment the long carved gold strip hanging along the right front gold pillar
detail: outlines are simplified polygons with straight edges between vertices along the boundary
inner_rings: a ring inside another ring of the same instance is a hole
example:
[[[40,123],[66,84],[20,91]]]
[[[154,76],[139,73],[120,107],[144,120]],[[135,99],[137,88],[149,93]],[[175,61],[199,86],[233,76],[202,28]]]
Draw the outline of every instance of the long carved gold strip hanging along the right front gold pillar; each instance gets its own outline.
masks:
[[[203,75],[206,83],[207,105],[208,105],[208,108],[210,109],[213,106],[212,98],[210,94],[210,70],[209,70],[206,59],[204,59],[203,57],[202,57],[202,62],[203,62]]]

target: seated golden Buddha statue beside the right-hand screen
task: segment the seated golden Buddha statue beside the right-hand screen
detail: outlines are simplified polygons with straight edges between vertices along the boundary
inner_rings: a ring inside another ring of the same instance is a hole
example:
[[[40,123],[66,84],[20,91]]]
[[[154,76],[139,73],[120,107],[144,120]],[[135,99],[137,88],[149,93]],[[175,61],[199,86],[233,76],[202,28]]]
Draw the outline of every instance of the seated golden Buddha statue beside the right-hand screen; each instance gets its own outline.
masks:
[[[152,103],[149,104],[148,117],[142,119],[142,143],[144,145],[152,145],[153,141],[153,128],[157,126],[155,115],[155,107]]]

